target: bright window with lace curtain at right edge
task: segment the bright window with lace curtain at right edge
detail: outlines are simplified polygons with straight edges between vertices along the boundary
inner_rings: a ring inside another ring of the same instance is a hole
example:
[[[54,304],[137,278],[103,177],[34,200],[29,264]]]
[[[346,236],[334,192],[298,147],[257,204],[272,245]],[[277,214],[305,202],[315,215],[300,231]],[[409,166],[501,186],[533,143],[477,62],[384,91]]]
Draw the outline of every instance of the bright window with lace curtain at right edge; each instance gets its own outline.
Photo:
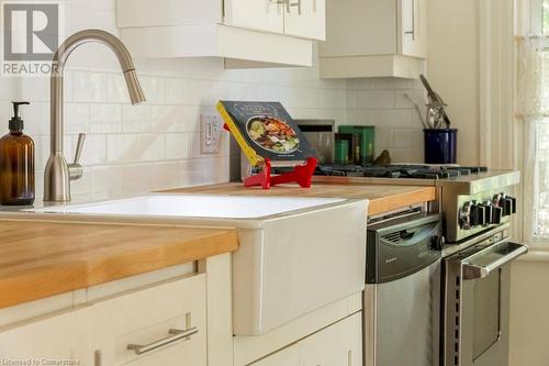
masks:
[[[525,239],[549,244],[549,0],[530,1],[530,34],[518,37],[518,117],[525,129]]]

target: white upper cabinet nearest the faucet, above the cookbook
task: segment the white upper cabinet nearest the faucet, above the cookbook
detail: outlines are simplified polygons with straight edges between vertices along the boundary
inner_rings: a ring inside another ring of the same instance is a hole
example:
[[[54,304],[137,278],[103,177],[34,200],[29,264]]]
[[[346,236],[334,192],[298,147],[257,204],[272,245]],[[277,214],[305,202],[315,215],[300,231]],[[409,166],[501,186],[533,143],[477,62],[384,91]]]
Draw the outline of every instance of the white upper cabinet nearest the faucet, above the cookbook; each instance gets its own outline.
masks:
[[[117,0],[135,57],[222,57],[226,67],[311,66],[325,0]]]

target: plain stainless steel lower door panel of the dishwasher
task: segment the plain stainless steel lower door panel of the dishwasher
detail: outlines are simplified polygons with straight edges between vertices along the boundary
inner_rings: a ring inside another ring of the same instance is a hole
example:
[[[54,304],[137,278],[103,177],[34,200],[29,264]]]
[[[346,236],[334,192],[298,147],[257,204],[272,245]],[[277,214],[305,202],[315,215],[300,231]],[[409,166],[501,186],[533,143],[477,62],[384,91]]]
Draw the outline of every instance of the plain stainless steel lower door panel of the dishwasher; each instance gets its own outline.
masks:
[[[366,366],[438,365],[440,262],[365,290]]]

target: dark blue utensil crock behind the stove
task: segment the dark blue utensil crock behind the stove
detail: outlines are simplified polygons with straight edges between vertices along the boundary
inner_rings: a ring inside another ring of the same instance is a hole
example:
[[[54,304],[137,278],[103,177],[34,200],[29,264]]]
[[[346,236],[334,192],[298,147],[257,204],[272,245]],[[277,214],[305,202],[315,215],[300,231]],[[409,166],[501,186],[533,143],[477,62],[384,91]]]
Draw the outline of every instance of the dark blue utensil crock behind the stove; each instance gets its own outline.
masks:
[[[456,164],[458,130],[423,130],[426,164]]]

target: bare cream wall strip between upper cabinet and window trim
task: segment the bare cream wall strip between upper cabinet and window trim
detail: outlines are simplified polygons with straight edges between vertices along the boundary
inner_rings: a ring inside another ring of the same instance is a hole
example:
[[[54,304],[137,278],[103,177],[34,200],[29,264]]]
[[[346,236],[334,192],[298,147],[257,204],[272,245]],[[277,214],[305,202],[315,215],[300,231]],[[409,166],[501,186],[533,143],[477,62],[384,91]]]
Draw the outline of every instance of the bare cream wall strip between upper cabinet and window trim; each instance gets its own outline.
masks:
[[[479,0],[428,0],[427,74],[459,129],[458,162],[480,164]]]

